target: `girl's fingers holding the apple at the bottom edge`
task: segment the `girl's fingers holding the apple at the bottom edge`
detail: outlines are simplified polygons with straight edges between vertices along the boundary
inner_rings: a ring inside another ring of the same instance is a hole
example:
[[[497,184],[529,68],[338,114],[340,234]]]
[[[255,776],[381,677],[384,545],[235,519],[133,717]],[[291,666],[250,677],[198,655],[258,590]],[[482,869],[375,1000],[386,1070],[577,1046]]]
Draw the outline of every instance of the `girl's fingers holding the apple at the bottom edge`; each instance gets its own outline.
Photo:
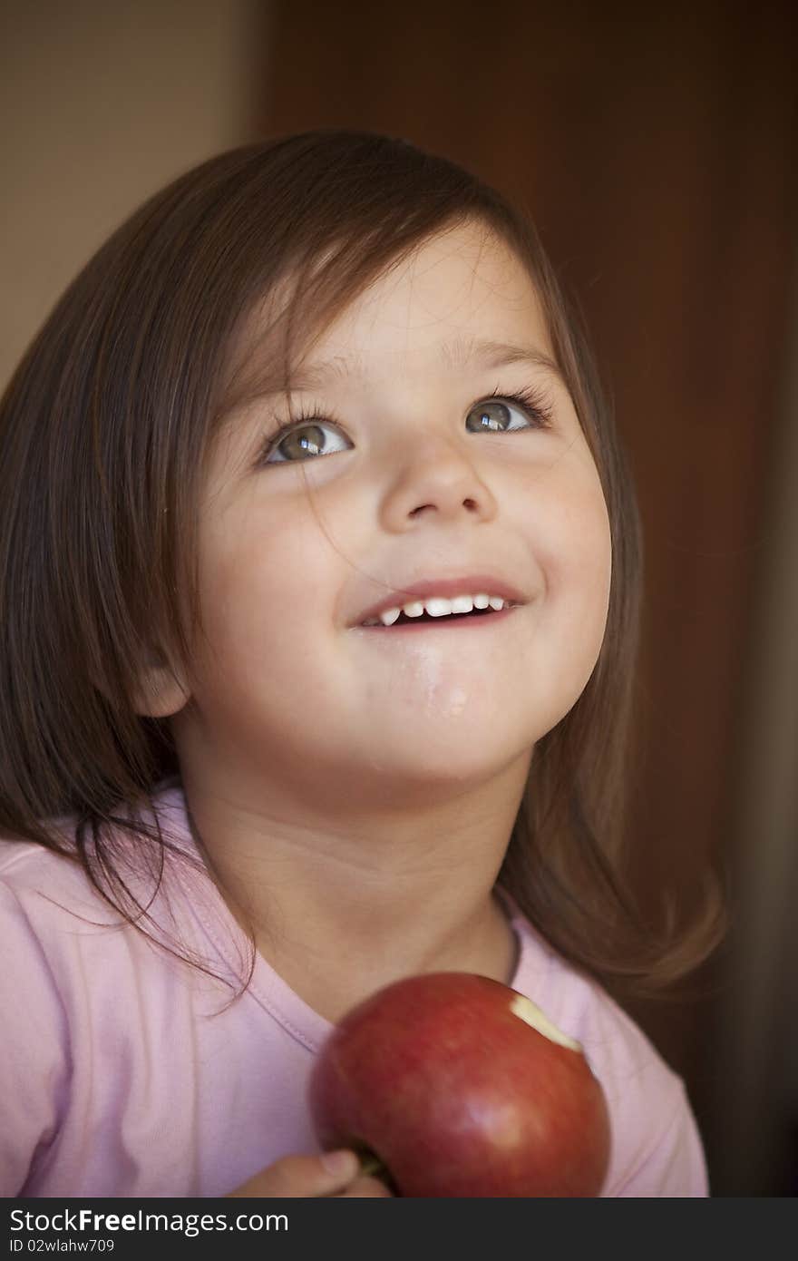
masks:
[[[378,1178],[361,1170],[354,1151],[325,1151],[320,1156],[284,1156],[261,1169],[227,1199],[333,1195],[337,1199],[390,1197]]]

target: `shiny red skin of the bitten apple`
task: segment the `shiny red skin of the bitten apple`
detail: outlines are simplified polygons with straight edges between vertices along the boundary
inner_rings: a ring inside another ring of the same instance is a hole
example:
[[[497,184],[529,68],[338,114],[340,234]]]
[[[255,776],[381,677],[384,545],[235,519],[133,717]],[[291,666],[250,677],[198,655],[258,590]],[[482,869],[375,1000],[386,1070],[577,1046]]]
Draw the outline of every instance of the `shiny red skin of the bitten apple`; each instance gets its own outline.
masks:
[[[371,1150],[407,1197],[589,1197],[610,1155],[604,1092],[579,1047],[485,976],[435,972],[353,1008],[321,1048],[309,1107],[323,1149]]]

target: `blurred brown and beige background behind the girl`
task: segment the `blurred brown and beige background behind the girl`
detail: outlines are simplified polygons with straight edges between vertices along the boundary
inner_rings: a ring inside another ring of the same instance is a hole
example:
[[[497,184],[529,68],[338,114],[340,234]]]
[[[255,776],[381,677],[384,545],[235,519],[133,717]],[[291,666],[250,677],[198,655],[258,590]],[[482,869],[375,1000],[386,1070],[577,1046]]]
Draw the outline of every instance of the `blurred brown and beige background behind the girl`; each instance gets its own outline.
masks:
[[[4,0],[0,385],[66,284],[203,158],[323,125],[463,163],[537,222],[640,498],[635,879],[724,947],[629,1010],[714,1195],[798,1193],[798,42],[792,3]]]

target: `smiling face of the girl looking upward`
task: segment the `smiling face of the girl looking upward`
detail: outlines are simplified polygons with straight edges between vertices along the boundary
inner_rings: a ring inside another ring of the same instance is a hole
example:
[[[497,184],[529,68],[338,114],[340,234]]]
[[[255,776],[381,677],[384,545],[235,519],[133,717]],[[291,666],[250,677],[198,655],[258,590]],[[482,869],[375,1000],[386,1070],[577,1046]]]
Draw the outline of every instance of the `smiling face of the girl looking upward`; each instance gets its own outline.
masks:
[[[599,477],[551,356],[526,270],[466,226],[313,346],[314,387],[292,395],[313,421],[270,445],[284,396],[228,417],[199,538],[207,641],[174,721],[184,770],[310,805],[528,764],[591,675],[610,589]],[[537,404],[512,401],[524,391]],[[517,607],[363,625],[436,594]]]

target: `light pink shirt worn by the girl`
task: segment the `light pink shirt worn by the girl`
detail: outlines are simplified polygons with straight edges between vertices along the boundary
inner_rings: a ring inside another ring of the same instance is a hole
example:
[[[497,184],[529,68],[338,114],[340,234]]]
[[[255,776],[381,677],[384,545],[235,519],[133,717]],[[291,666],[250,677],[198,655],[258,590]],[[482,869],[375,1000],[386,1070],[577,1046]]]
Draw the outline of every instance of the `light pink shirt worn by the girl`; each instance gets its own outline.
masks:
[[[195,854],[179,784],[163,788],[159,815]],[[168,865],[150,913],[234,975],[242,933],[204,871]],[[318,1151],[305,1091],[329,1023],[261,956],[222,1010],[229,989],[119,923],[76,864],[0,845],[0,1195],[224,1195],[280,1156]],[[681,1078],[519,914],[513,927],[513,987],[582,1043],[606,1093],[603,1194],[707,1195]]]

